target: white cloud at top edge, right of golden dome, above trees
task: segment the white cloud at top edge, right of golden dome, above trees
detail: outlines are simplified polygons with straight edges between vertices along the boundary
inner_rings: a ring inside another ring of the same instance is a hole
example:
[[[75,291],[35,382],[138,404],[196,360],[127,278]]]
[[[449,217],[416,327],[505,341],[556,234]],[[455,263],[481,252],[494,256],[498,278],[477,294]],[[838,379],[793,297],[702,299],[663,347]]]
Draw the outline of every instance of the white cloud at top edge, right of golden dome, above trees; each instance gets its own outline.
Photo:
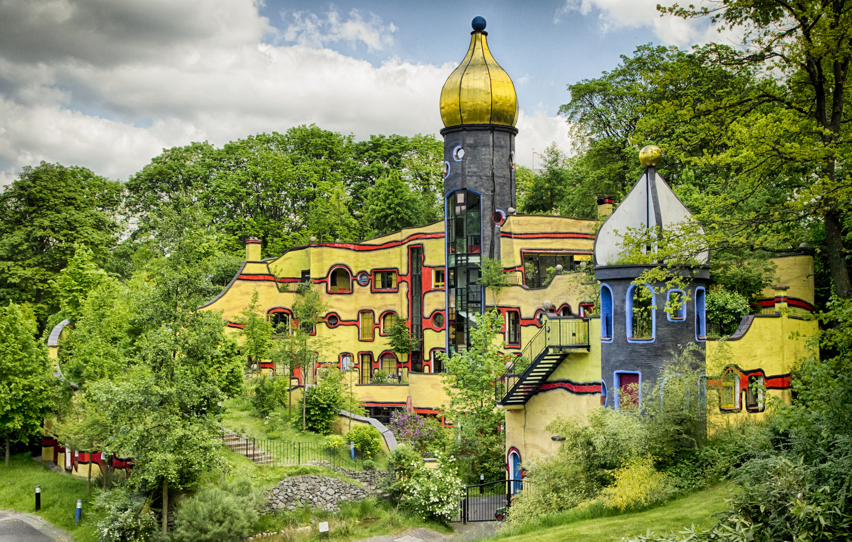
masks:
[[[566,0],[556,10],[554,20],[558,22],[564,15],[573,11],[581,14],[598,13],[604,32],[618,32],[622,28],[648,27],[659,37],[661,43],[686,47],[696,43],[739,43],[734,32],[717,32],[717,26],[711,25],[705,17],[682,19],[673,15],[663,15],[657,11],[657,4],[670,5],[659,0]],[[711,6],[710,2],[699,0],[697,7]]]

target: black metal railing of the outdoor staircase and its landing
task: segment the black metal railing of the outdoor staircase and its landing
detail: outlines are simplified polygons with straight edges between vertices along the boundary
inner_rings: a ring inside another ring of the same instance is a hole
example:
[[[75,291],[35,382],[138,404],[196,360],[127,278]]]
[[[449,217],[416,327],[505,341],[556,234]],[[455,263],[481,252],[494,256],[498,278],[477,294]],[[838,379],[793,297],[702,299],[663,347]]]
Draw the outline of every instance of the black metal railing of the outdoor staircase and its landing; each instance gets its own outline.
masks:
[[[494,400],[501,403],[513,389],[517,391],[519,384],[522,385],[552,351],[589,349],[589,346],[588,319],[551,317],[545,320],[544,326],[521,350],[521,355],[516,356],[500,378],[494,379]]]

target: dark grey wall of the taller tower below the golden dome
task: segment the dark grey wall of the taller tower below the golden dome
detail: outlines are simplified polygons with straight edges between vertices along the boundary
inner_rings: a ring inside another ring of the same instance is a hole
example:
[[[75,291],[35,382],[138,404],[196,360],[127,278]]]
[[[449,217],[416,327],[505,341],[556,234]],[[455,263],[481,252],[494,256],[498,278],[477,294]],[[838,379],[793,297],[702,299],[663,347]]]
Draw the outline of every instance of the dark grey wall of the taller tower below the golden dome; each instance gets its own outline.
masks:
[[[441,130],[444,159],[450,174],[444,180],[444,197],[459,188],[481,194],[482,256],[500,257],[499,228],[491,220],[494,210],[508,213],[515,207],[515,170],[511,153],[518,130],[497,124],[469,124]],[[453,159],[456,147],[464,149],[461,162]]]

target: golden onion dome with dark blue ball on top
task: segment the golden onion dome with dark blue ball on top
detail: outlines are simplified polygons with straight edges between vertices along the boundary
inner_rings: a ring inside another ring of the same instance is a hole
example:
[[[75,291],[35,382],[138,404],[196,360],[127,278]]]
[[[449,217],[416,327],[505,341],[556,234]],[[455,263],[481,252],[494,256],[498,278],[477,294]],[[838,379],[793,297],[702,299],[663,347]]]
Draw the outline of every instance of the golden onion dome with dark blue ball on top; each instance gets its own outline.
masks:
[[[446,78],[444,88],[440,91],[440,118],[444,126],[514,126],[518,120],[515,85],[488,50],[485,24],[482,17],[473,20],[471,26],[474,32],[470,32],[468,54]]]

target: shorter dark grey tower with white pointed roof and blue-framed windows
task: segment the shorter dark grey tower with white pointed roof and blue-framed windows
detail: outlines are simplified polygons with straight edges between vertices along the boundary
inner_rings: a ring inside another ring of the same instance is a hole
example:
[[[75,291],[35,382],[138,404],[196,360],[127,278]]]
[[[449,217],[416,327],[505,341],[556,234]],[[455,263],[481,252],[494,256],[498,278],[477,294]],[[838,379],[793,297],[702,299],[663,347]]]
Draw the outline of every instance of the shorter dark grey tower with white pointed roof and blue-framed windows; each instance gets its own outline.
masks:
[[[601,373],[604,401],[608,407],[624,400],[617,392],[631,383],[656,383],[665,360],[688,343],[704,343],[706,336],[705,284],[710,278],[707,253],[691,255],[683,265],[649,262],[645,265],[620,264],[624,247],[621,236],[630,228],[653,233],[672,228],[690,216],[654,167],[659,149],[648,147],[642,153],[648,166],[624,201],[603,222],[595,239],[595,278],[601,283]],[[647,253],[650,246],[642,248]],[[649,268],[665,268],[668,276],[679,276],[682,288],[664,283],[633,284]],[[666,312],[666,304],[670,311]],[[678,310],[671,310],[680,305]],[[698,368],[696,370],[699,370]],[[632,396],[630,401],[640,397]]]

